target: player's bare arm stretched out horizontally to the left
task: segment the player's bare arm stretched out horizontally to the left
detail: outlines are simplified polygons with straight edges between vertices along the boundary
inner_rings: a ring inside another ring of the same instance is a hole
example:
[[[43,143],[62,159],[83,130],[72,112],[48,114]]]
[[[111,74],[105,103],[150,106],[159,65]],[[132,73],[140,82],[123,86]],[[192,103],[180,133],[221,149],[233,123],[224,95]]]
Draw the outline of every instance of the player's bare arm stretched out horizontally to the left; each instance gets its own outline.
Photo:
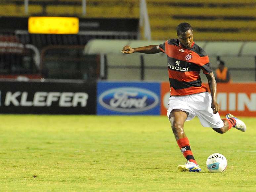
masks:
[[[132,54],[132,53],[146,53],[146,54],[154,54],[160,53],[161,50],[159,49],[159,45],[149,45],[146,47],[136,47],[131,48],[129,45],[123,47],[121,53],[125,54]]]

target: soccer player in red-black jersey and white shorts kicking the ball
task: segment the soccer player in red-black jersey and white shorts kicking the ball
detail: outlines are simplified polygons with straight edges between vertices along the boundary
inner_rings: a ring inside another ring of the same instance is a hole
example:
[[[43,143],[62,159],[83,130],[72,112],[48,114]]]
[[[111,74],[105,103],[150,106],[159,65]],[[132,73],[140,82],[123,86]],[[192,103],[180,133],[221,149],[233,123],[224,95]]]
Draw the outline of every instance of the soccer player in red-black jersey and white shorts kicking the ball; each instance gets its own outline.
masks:
[[[193,41],[193,30],[189,23],[180,23],[177,26],[178,39],[169,39],[160,45],[131,48],[125,46],[122,53],[155,54],[163,52],[168,58],[168,72],[170,80],[169,108],[167,116],[172,131],[181,152],[187,159],[185,165],[179,165],[178,170],[200,172],[196,163],[189,139],[184,132],[185,121],[197,116],[203,127],[211,127],[214,131],[224,134],[232,127],[245,132],[244,122],[231,114],[221,119],[218,113],[220,106],[216,102],[216,81],[209,58],[202,48]],[[202,85],[199,73],[202,69],[208,79],[211,95]]]

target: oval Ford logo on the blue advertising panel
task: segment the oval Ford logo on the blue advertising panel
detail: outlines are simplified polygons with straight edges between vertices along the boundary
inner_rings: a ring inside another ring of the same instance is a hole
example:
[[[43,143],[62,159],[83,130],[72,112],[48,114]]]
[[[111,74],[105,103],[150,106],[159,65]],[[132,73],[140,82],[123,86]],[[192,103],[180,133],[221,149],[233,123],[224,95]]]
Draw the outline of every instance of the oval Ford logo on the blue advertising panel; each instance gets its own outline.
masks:
[[[155,93],[136,87],[110,89],[99,96],[99,103],[103,107],[126,113],[152,109],[158,104],[158,100]]]

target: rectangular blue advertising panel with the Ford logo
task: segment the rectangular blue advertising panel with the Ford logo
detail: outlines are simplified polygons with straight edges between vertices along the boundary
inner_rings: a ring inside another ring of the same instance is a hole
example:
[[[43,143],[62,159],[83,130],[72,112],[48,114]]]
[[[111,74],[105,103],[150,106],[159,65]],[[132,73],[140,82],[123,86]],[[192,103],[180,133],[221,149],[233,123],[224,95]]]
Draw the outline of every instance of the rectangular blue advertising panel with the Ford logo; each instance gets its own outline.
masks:
[[[160,83],[98,82],[98,115],[159,115]]]

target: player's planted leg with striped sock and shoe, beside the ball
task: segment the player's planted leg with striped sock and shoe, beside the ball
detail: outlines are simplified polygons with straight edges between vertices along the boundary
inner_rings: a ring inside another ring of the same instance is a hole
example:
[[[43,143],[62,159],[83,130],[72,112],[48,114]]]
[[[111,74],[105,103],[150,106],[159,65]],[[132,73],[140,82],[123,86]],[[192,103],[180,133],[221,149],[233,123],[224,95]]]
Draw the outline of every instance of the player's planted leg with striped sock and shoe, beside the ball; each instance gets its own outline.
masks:
[[[180,171],[192,171],[200,172],[201,168],[197,165],[194,156],[191,151],[189,139],[184,132],[184,123],[188,117],[188,112],[184,112],[179,109],[173,109],[170,113],[169,120],[171,122],[171,127],[175,139],[180,147],[181,152],[184,157],[188,160],[185,165],[179,165],[178,169]]]

